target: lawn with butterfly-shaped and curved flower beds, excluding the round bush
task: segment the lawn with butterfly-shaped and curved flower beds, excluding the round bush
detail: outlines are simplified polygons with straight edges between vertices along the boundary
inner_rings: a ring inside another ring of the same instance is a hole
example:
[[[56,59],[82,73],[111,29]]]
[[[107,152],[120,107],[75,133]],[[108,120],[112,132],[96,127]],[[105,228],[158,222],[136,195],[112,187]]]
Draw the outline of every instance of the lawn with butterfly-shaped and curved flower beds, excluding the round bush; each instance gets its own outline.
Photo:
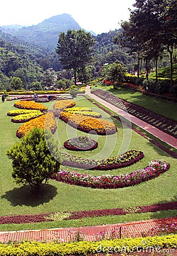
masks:
[[[173,202],[176,192],[175,158],[125,127],[114,117],[115,113],[107,114],[106,108],[101,105],[99,108],[83,96],[42,103],[16,98],[6,101],[4,108],[1,113],[4,185],[0,212],[2,220],[7,215],[23,217],[18,217],[18,222],[11,218],[2,223],[0,218],[0,230],[102,225],[175,216],[173,207],[162,207],[157,212],[132,210],[120,214],[117,211],[113,215],[109,212]],[[33,127],[51,130],[61,151],[60,170],[41,187],[38,195],[28,185],[14,183],[11,161],[5,155],[6,149]],[[131,139],[126,141],[128,132]],[[107,209],[104,216],[91,214],[103,209]],[[90,211],[88,216],[84,216],[86,211]],[[81,217],[73,220],[65,217],[66,212],[69,215],[81,212]],[[60,218],[47,221],[37,218],[50,213],[59,213]],[[35,216],[33,221],[23,221],[27,215]]]

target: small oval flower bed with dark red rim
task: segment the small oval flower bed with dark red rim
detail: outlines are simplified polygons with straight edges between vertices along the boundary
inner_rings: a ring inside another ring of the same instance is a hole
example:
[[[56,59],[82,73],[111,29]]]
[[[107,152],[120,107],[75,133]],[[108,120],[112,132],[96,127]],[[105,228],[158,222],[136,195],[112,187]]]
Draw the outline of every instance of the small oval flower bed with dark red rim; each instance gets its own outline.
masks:
[[[68,141],[64,142],[64,147],[74,151],[88,151],[98,147],[98,142],[86,136],[81,136],[68,139]]]

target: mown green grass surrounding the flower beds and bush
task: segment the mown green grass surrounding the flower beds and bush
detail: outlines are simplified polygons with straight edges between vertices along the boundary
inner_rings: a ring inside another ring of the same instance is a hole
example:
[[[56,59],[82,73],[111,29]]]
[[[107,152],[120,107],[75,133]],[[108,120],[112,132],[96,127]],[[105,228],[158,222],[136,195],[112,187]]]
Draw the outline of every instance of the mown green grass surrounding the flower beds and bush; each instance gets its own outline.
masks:
[[[128,97],[128,96],[127,96]],[[95,105],[82,96],[77,96],[77,106],[90,106],[94,111],[100,112],[95,108]],[[48,108],[52,108],[51,102],[44,104]],[[1,123],[0,123],[0,139],[1,139],[1,172],[0,172],[0,216],[9,214],[35,214],[48,213],[54,211],[75,211],[75,210],[94,210],[94,209],[112,209],[112,208],[127,208],[138,205],[149,205],[155,203],[165,203],[176,201],[176,159],[172,158],[164,151],[160,150],[154,144],[151,144],[140,135],[132,132],[131,139],[129,139],[129,129],[122,128],[121,123],[112,119],[118,127],[115,135],[108,135],[107,137],[99,136],[99,147],[94,151],[73,152],[73,155],[81,155],[84,157],[105,158],[109,155],[114,156],[119,154],[121,143],[124,139],[123,150],[141,150],[145,154],[145,158],[133,166],[112,170],[112,171],[91,171],[91,170],[77,170],[78,172],[87,172],[88,174],[125,174],[147,166],[147,163],[153,159],[165,159],[171,164],[171,168],[165,174],[147,181],[146,183],[138,184],[134,187],[127,187],[121,189],[92,189],[86,187],[79,187],[65,183],[59,183],[50,180],[46,184],[39,195],[34,194],[28,186],[19,186],[14,183],[11,177],[11,160],[7,158],[5,152],[12,144],[19,139],[16,137],[16,129],[20,124],[12,123],[11,117],[7,116],[9,110],[14,109],[14,101],[0,102],[1,109]],[[171,112],[174,111],[171,109]],[[102,111],[101,111],[102,112]],[[107,114],[102,112],[104,118],[111,120]],[[69,137],[75,135],[85,135],[81,131],[75,131],[72,127],[61,120],[57,124],[57,137],[59,145]],[[92,135],[96,138],[96,135]],[[129,144],[130,143],[130,144]],[[69,151],[67,151],[69,152]],[[61,168],[68,168],[62,167]],[[68,168],[71,170],[71,168]],[[40,229],[40,228],[59,228],[62,226],[81,226],[81,225],[96,225],[109,224],[121,221],[142,220],[146,218],[175,216],[176,210],[159,213],[146,214],[127,214],[126,216],[106,216],[86,218],[85,220],[73,221],[56,221],[46,222],[42,224],[18,224],[18,225],[0,225],[0,230],[19,230],[19,229]]]

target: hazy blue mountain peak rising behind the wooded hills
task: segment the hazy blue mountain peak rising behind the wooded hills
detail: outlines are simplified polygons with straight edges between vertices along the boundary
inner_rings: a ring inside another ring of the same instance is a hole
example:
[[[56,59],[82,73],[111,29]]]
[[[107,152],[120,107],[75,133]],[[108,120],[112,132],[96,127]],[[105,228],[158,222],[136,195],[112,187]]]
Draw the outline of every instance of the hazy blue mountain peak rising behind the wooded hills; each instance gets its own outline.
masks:
[[[45,19],[37,25],[19,27],[19,29],[17,26],[3,26],[0,27],[0,30],[26,42],[53,50],[57,47],[60,32],[67,32],[69,29],[78,30],[79,28],[81,28],[79,24],[69,14],[61,14]]]

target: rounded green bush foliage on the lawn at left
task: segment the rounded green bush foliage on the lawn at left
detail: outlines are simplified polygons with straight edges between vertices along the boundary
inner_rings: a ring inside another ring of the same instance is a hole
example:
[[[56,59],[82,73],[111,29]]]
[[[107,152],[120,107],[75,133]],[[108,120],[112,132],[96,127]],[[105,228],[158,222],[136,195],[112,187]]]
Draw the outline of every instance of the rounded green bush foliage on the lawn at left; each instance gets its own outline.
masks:
[[[59,156],[57,144],[52,141],[52,133],[47,133],[50,145]],[[12,177],[16,183],[29,184],[35,189],[39,189],[60,168],[60,163],[50,154],[44,130],[39,128],[29,131],[6,154],[12,160]]]

